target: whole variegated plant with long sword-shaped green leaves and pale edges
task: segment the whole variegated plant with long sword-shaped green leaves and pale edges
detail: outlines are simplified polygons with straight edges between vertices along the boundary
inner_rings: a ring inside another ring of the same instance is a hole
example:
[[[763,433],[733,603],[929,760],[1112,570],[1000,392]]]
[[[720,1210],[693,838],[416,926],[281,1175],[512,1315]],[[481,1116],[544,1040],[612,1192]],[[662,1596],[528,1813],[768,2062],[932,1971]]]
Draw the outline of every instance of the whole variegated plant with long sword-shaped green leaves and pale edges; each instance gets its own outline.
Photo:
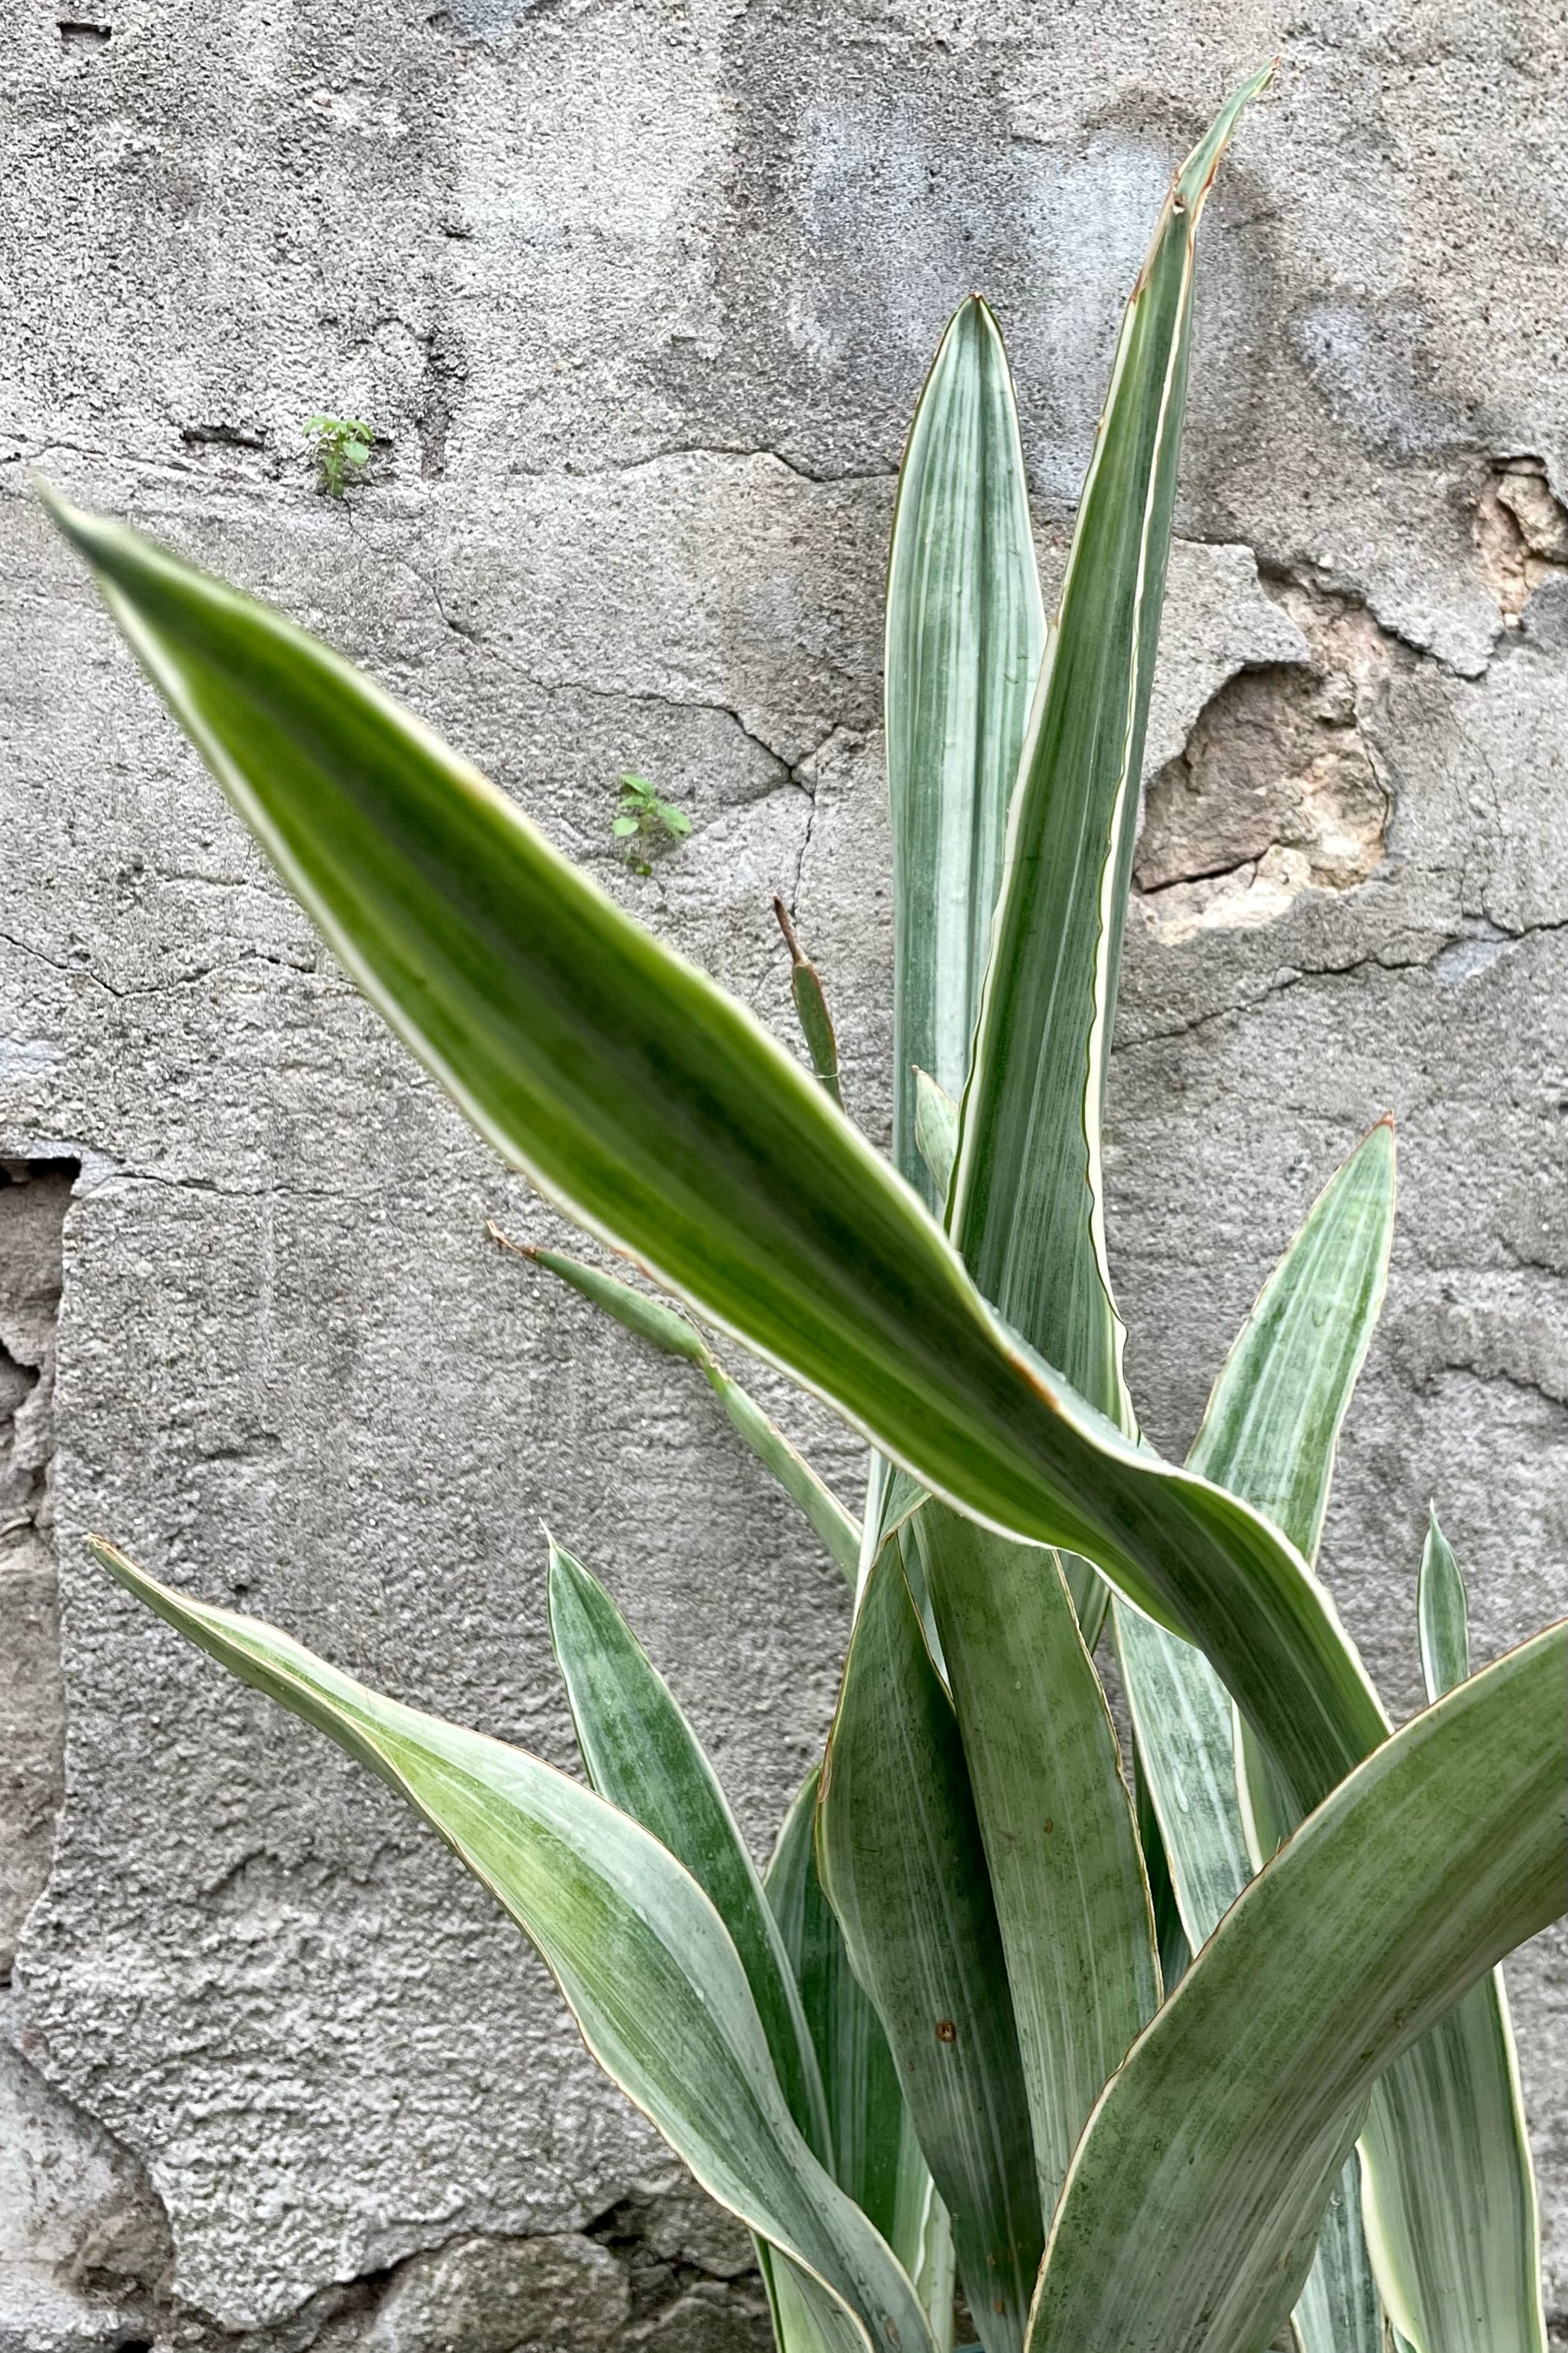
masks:
[[[106,1567],[440,1831],[590,2052],[757,2238],[783,2353],[1542,2353],[1497,1960],[1566,1894],[1568,1628],[1392,1732],[1314,1558],[1378,1315],[1394,1136],[1309,1209],[1185,1466],[1138,1433],[1100,1111],[1182,428],[1194,238],[1131,296],[1046,628],[980,301],[893,522],[893,1165],[813,1071],[324,645],[59,506],[277,873],[496,1151],[651,1287],[531,1252],[689,1358],[856,1588],[820,1767],[759,1873],[602,1584],[550,1548],[588,1786],[284,1633]],[[527,1245],[524,1245],[527,1247]],[[658,1297],[665,1294],[665,1297]],[[693,1320],[696,1318],[696,1320]],[[872,1445],[863,1518],[717,1327]],[[1114,1649],[1133,1791],[1093,1666]],[[1267,1857],[1267,1868],[1262,1859]]]

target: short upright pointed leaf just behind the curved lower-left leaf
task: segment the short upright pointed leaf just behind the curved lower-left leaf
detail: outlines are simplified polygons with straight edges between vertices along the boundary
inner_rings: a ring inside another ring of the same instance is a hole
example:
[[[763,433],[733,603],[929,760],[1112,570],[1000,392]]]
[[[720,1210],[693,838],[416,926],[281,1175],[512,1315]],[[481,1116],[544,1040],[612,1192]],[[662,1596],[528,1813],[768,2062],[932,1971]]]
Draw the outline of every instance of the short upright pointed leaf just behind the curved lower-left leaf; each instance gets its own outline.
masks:
[[[832,2127],[795,1969],[703,1744],[597,1577],[550,1537],[550,1640],[588,1781],[684,1864],[729,1929],[790,2115],[823,2165]]]

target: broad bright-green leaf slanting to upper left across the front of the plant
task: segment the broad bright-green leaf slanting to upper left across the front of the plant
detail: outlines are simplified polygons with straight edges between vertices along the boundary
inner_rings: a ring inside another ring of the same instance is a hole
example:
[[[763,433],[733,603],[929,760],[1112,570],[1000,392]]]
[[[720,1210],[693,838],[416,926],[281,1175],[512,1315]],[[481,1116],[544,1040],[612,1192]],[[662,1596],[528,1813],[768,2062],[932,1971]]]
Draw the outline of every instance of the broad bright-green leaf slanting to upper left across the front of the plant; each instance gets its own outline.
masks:
[[[1006,1534],[1194,1638],[1302,1805],[1382,1729],[1326,1595],[992,1318],[940,1228],[752,1016],[327,647],[56,508],[275,866],[482,1134],[578,1224]]]

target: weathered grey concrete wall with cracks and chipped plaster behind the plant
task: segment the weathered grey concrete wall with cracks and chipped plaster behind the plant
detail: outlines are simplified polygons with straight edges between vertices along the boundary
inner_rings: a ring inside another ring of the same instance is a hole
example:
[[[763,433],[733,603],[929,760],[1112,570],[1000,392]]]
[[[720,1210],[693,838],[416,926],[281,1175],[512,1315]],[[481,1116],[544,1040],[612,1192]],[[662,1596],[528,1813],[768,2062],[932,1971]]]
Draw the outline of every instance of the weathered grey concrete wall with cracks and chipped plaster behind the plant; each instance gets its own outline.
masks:
[[[552,1226],[320,955],[26,468],[324,628],[780,1026],[783,889],[884,1134],[879,574],[922,369],[980,285],[1060,567],[1168,167],[1281,49],[1206,233],[1112,1249],[1180,1447],[1309,1195],[1399,1113],[1326,1567],[1408,1711],[1429,1494],[1481,1654],[1563,1607],[1561,12],[16,0],[7,31],[0,1929],[54,1838],[0,2346],[762,2341],[745,2249],[658,2191],[456,1866],[82,1537],[567,1760],[548,1518],[759,1845],[839,1584],[703,1391],[484,1242]],[[378,431],[343,504],[317,409]],[[628,767],[696,828],[651,880],[609,842]],[[851,1494],[856,1447],[795,1424]],[[1514,1988],[1568,2311],[1561,1944]]]

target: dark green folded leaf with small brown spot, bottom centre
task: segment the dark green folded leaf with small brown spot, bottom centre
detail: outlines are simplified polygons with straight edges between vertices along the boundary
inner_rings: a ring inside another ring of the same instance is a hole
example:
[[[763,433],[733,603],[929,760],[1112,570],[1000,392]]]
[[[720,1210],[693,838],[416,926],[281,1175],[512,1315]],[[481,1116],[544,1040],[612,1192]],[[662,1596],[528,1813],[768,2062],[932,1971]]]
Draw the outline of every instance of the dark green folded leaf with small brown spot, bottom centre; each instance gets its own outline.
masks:
[[[987,2353],[1016,2353],[1044,2245],[1006,1958],[952,1701],[889,1539],[823,1762],[818,1868],[952,2214]]]

